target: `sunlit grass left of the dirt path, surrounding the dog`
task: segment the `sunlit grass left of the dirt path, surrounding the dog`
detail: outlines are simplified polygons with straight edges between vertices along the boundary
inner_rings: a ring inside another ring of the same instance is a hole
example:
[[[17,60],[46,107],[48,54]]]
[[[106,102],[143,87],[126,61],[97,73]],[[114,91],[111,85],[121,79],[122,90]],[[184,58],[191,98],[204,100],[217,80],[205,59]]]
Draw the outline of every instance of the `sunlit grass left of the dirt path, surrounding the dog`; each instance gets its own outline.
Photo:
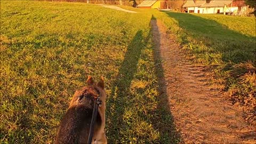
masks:
[[[177,142],[158,104],[150,19],[84,3],[1,1],[1,143],[53,142],[88,75],[106,78],[109,143]]]

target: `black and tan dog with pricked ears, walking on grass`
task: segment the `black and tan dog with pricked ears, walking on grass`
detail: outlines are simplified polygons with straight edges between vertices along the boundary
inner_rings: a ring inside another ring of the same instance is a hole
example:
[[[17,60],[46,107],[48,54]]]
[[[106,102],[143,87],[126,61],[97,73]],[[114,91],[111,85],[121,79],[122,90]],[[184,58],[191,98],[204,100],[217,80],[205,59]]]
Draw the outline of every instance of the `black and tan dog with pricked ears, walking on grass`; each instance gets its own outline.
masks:
[[[105,129],[106,91],[103,77],[94,84],[93,78],[88,77],[88,86],[75,92],[67,113],[63,117],[55,143],[87,143],[92,119],[94,100],[100,96],[102,106],[98,109],[92,143],[107,143]]]

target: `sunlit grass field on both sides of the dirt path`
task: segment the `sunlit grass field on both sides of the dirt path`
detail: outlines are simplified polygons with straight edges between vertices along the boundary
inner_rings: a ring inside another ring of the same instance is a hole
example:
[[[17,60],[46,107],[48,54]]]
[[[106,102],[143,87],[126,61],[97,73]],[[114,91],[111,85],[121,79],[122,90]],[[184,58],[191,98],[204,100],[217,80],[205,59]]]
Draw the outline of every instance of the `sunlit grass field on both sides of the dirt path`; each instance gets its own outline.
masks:
[[[1,1],[0,142],[52,143],[75,90],[88,75],[102,75],[109,143],[178,143],[172,115],[159,103],[152,14],[236,100],[255,98],[255,79],[241,79],[256,64],[255,19],[138,11]]]

